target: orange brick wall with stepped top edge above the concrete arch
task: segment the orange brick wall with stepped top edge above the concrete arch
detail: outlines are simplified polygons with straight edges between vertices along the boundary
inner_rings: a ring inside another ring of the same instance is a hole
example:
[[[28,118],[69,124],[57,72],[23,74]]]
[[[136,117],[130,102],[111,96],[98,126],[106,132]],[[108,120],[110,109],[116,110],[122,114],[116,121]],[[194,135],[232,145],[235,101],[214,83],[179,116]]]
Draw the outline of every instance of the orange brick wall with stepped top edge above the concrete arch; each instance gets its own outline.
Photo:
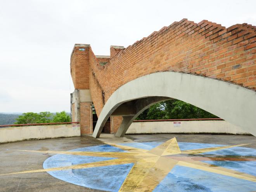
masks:
[[[88,45],[81,54],[83,58],[88,58],[83,64],[88,69],[84,66],[81,69],[86,69],[84,76],[89,79],[81,83],[85,78],[78,80],[73,77],[73,81],[76,79],[78,85],[89,83],[98,114],[111,94],[121,85],[159,71],[205,76],[255,91],[255,40],[255,26],[246,23],[225,28],[206,20],[197,24],[182,19],[118,50],[105,66],[99,65]],[[75,47],[73,53],[77,54],[78,48],[81,47]]]

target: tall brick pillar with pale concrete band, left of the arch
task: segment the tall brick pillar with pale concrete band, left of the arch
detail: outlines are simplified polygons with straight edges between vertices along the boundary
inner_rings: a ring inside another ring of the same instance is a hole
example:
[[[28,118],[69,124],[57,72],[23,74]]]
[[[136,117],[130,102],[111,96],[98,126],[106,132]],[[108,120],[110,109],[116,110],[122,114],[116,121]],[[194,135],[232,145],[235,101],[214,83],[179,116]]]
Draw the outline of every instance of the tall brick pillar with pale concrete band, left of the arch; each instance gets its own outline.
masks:
[[[92,133],[92,99],[89,91],[90,45],[75,44],[70,60],[70,73],[74,84],[71,93],[72,120],[80,122],[81,135]]]

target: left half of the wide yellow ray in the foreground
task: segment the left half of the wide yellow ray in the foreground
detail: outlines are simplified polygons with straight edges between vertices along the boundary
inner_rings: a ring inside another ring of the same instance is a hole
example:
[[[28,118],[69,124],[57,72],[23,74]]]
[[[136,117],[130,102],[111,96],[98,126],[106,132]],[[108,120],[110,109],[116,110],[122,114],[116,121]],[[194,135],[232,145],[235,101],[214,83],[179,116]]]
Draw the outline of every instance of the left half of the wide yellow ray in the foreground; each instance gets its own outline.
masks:
[[[136,187],[144,180],[144,177],[149,172],[150,168],[154,166],[159,157],[149,157],[138,159],[133,165],[130,172],[125,178],[119,192],[134,191]]]

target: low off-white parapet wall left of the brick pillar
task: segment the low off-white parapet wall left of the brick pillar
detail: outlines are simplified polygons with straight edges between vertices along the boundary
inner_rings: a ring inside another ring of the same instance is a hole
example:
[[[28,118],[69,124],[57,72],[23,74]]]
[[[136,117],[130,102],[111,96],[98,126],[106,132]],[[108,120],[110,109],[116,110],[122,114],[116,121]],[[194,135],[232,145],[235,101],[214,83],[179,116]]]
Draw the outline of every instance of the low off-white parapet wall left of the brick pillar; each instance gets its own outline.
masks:
[[[80,136],[80,125],[44,125],[0,128],[0,143]]]

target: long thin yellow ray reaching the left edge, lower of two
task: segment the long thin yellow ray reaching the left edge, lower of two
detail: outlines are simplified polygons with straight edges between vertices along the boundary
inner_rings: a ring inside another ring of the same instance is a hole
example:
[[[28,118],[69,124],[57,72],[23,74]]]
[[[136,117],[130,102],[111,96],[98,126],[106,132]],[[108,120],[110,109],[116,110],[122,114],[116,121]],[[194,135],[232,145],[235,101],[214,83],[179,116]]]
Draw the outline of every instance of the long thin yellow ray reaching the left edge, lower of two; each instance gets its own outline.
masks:
[[[60,170],[68,170],[68,169],[84,169],[90,167],[102,167],[102,166],[109,166],[109,165],[118,165],[118,164],[127,164],[127,163],[134,163],[134,159],[110,159],[106,161],[97,161],[92,163],[84,163],[84,164],[77,164],[71,166],[64,166],[64,167],[57,167],[57,168],[48,168],[48,169],[40,169],[40,170],[30,170],[30,171],[21,171],[16,173],[6,173],[1,175],[13,175],[13,174],[21,174],[21,173],[38,173],[38,172],[46,172],[46,171],[60,171]]]

